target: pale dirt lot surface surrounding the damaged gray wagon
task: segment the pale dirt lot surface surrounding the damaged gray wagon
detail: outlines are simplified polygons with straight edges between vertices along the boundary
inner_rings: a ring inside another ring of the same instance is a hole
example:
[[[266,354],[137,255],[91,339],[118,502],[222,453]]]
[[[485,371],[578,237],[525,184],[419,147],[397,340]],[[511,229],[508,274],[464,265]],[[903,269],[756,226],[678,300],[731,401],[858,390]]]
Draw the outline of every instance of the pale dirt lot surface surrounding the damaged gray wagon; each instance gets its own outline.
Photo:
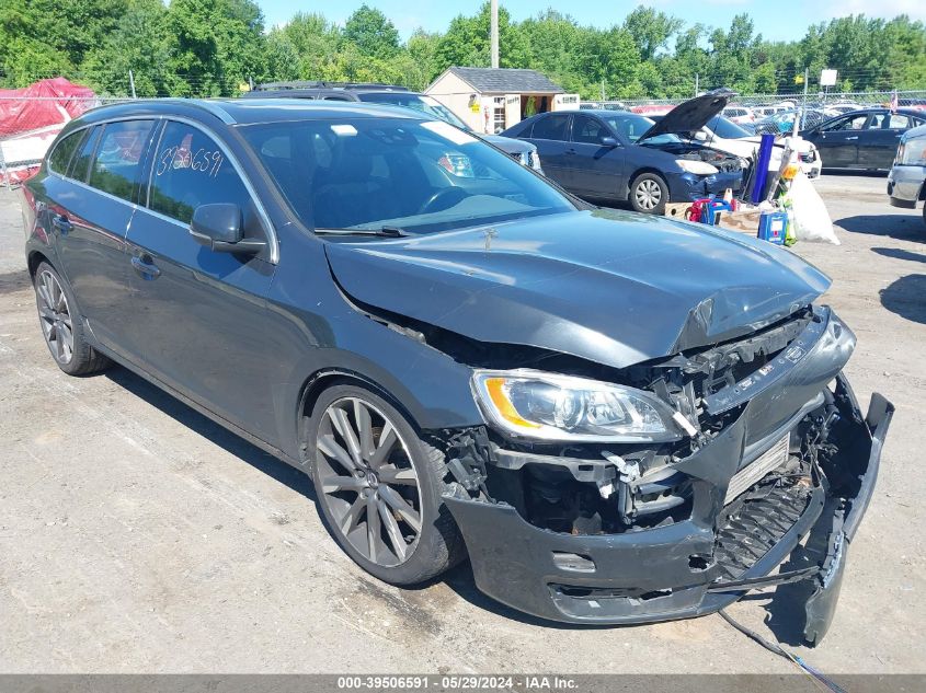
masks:
[[[731,612],[826,672],[924,672],[926,226],[883,177],[816,185],[843,244],[796,251],[858,335],[859,400],[880,390],[896,415],[824,643],[793,644],[787,601]],[[467,565],[418,590],[377,582],[299,473],[122,368],[62,374],[22,243],[0,190],[0,671],[793,671],[716,615],[567,627],[483,598]]]

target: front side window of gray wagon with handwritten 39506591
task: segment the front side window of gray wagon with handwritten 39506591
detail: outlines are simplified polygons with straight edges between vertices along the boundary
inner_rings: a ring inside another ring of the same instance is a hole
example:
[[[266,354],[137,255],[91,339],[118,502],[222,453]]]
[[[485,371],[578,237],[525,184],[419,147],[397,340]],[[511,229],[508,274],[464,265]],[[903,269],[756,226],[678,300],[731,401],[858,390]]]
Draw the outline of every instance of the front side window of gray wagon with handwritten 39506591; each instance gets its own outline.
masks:
[[[272,148],[287,153],[282,141]],[[168,123],[152,166],[148,206],[172,219],[190,223],[199,205],[233,203],[245,213],[251,206],[248,188],[225,152],[195,127]]]

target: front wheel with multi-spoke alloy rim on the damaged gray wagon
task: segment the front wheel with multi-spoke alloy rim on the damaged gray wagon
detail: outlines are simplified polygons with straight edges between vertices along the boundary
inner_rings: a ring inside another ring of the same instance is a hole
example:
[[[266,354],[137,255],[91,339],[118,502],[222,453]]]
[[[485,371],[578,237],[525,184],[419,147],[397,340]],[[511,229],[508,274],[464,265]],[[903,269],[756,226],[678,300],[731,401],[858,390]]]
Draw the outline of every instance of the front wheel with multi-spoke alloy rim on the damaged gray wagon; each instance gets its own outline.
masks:
[[[325,390],[306,427],[322,518],[344,552],[392,585],[439,575],[464,555],[441,500],[444,454],[366,388]]]

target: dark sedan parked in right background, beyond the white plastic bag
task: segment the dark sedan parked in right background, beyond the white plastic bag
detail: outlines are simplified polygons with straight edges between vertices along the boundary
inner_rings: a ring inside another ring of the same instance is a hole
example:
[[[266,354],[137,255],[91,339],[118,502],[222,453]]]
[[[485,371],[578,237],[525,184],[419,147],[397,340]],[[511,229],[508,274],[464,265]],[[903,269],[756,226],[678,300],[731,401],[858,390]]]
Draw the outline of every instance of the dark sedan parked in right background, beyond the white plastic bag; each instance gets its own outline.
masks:
[[[926,114],[913,108],[854,111],[801,132],[816,145],[827,169],[891,168],[904,132],[926,123]]]

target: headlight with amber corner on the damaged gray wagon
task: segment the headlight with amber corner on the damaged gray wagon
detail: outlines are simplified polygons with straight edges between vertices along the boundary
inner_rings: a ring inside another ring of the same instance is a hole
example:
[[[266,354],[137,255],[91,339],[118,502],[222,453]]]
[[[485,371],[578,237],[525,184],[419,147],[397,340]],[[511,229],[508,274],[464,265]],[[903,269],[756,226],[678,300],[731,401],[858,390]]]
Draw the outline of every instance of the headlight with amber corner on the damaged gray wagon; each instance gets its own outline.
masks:
[[[531,370],[477,371],[477,402],[506,431],[540,440],[678,440],[676,413],[655,395],[611,383]],[[681,414],[678,414],[681,416]]]

